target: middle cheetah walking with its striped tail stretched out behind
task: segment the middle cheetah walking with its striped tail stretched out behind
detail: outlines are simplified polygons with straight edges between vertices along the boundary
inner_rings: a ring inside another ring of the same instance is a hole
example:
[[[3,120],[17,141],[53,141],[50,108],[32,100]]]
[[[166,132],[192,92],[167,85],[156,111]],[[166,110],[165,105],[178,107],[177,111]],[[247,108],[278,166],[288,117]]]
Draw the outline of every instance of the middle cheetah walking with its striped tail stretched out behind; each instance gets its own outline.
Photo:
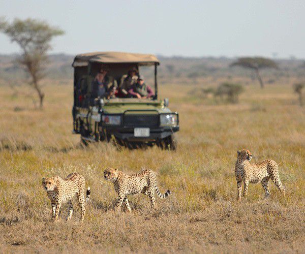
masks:
[[[127,195],[135,195],[142,193],[147,195],[151,202],[151,208],[156,207],[155,190],[161,199],[170,195],[170,190],[165,194],[161,194],[157,187],[156,173],[149,169],[142,169],[140,173],[127,175],[118,169],[108,168],[104,171],[106,180],[113,182],[114,190],[118,194],[115,210],[119,210],[124,202],[129,212],[131,208],[128,203]]]

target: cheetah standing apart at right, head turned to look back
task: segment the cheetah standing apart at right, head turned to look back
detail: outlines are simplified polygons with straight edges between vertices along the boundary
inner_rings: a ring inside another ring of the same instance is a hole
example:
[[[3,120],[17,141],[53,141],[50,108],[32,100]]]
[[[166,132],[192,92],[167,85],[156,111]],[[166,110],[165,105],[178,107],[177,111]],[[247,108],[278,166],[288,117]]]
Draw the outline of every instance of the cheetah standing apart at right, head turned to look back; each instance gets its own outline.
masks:
[[[249,150],[243,149],[237,151],[237,161],[235,164],[235,177],[237,181],[238,200],[241,198],[241,182],[243,181],[243,196],[247,196],[248,185],[251,183],[261,182],[265,190],[265,198],[270,196],[268,188],[268,181],[271,180],[285,195],[285,188],[283,187],[279,177],[279,167],[275,161],[265,160],[262,162],[250,164],[252,154]]]

